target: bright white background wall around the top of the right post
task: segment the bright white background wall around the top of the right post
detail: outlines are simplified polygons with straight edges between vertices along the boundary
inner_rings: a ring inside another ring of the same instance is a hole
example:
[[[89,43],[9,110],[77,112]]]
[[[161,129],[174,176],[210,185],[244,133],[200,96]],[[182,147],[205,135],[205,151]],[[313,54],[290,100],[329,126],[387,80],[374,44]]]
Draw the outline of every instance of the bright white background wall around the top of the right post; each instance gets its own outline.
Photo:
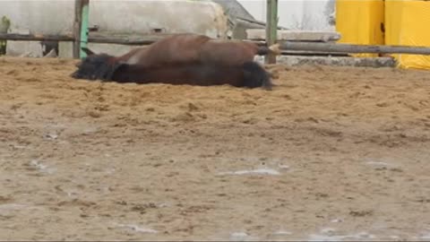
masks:
[[[238,0],[259,21],[266,21],[266,0]],[[280,26],[293,30],[334,30],[324,14],[329,0],[279,0]]]

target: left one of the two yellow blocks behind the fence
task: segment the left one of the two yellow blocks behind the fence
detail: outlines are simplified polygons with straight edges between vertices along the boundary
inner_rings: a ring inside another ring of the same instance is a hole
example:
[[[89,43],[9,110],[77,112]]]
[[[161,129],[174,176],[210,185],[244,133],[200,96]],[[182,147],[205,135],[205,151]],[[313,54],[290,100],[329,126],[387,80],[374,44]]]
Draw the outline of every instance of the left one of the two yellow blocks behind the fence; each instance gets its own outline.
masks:
[[[337,0],[336,30],[340,32],[339,43],[356,45],[383,45],[383,0]],[[353,56],[377,56],[356,54]]]

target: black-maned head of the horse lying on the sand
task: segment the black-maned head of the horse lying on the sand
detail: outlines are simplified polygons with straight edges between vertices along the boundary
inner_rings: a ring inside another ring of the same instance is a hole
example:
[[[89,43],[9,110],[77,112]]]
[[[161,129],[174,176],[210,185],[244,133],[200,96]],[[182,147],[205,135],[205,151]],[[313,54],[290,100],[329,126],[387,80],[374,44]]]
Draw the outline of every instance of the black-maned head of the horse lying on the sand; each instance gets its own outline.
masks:
[[[76,79],[110,80],[118,65],[114,56],[95,54],[88,48],[82,48],[88,55],[76,65],[78,70],[72,73]]]

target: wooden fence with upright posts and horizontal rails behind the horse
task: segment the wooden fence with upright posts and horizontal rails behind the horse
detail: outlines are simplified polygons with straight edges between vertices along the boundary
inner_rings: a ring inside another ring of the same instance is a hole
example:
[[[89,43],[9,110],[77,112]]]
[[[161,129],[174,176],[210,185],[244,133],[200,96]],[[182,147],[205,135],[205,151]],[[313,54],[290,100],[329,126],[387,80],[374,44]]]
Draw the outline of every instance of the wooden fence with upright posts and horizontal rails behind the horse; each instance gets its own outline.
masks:
[[[333,43],[299,42],[277,40],[278,30],[278,0],[267,1],[266,41],[257,42],[260,45],[271,46],[279,43],[280,50],[315,51],[331,53],[379,53],[379,54],[411,54],[430,55],[427,47],[406,46],[370,46],[370,45],[346,45]],[[90,0],[75,0],[75,14],[73,23],[73,35],[38,35],[38,34],[13,34],[0,33],[0,40],[25,40],[25,41],[73,41],[73,57],[85,57],[82,47],[89,42],[122,44],[122,45],[149,45],[159,39],[166,38],[169,34],[150,34],[145,36],[112,36],[99,33],[89,33],[89,4]],[[276,56],[266,56],[267,64],[276,63]]]

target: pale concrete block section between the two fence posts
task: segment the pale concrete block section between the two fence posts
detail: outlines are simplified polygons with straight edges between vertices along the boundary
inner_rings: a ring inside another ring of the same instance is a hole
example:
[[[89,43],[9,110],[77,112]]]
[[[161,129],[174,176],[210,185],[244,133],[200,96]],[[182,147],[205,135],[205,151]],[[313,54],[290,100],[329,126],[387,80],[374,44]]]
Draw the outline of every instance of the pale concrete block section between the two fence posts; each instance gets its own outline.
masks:
[[[165,29],[225,38],[228,19],[218,4],[200,1],[90,1],[90,23],[123,33]]]

